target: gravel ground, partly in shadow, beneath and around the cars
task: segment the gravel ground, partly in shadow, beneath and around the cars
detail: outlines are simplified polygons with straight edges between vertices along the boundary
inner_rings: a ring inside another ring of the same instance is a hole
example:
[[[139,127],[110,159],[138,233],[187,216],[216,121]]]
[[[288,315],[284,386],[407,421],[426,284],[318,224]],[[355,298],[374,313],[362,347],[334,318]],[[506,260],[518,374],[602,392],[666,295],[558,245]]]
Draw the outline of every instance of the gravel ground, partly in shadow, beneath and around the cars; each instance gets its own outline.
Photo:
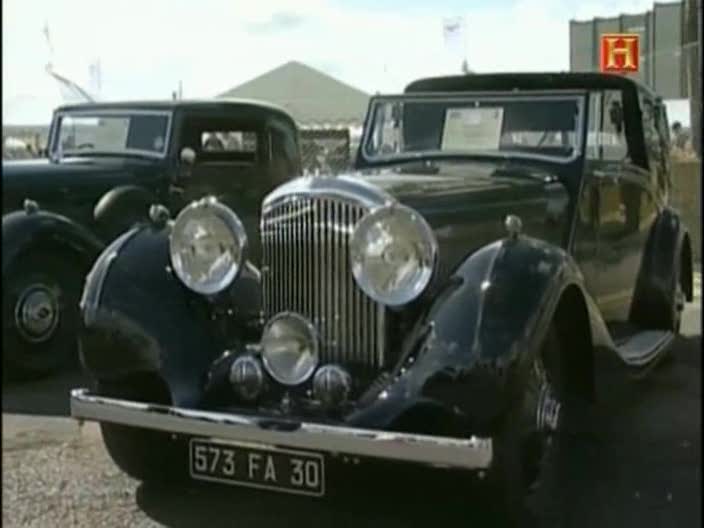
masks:
[[[604,403],[589,418],[596,435],[571,446],[555,490],[570,527],[701,526],[700,318],[698,303],[687,309],[674,361],[649,379],[624,383],[602,372]],[[387,475],[390,486],[370,487],[383,475],[363,474],[348,483],[360,492],[342,502],[140,485],[111,462],[95,424],[65,418],[68,390],[86,382],[68,372],[3,387],[3,526],[485,525],[467,516],[478,502],[474,492],[451,479]]]

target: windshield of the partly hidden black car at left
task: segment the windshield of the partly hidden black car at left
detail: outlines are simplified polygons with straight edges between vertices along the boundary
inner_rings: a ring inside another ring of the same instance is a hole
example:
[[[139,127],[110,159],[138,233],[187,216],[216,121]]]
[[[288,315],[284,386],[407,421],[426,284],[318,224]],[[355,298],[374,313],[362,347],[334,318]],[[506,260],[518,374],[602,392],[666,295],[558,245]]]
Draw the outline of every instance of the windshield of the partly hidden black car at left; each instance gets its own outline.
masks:
[[[58,157],[93,154],[164,156],[168,112],[66,113],[58,118],[52,152]]]

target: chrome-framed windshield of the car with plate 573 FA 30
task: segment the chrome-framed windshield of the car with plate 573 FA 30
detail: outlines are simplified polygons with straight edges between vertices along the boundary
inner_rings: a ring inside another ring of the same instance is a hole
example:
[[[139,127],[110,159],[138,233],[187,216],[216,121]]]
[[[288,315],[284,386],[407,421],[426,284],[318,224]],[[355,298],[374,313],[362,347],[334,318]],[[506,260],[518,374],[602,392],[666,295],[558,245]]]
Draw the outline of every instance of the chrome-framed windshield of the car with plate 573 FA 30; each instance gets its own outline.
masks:
[[[577,95],[377,97],[363,155],[368,161],[458,155],[569,160],[581,148],[582,101]]]

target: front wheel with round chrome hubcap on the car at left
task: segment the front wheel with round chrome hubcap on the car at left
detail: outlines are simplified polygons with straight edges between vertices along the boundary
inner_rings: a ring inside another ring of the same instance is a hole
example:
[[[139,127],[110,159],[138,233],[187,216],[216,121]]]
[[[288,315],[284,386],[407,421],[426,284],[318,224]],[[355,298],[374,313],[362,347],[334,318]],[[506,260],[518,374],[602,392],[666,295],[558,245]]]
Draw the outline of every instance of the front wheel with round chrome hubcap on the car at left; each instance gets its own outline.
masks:
[[[62,251],[19,255],[3,276],[3,365],[35,379],[77,357],[79,300],[87,265]]]

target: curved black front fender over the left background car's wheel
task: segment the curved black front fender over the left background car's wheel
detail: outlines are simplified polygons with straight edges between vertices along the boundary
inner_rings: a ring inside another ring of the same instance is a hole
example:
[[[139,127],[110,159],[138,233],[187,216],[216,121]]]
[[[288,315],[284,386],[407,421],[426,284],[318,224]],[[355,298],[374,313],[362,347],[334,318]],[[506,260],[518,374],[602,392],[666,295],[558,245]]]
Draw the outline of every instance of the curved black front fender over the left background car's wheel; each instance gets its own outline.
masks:
[[[14,211],[2,217],[3,275],[18,255],[34,248],[66,248],[92,262],[104,248],[90,230],[49,211]]]

